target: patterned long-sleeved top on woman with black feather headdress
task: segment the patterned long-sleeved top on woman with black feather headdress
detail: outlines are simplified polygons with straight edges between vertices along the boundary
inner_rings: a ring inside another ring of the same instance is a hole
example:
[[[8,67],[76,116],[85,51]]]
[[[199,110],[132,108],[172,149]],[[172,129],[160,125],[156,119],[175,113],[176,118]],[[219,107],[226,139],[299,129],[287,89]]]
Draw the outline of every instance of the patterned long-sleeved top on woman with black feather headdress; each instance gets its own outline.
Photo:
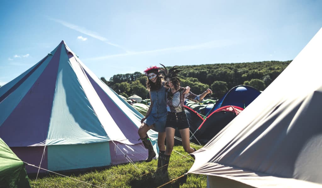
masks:
[[[184,111],[185,99],[189,99],[194,102],[200,101],[200,95],[196,95],[192,92],[184,94],[185,88],[181,87],[177,92],[172,94],[171,90],[168,89],[166,92],[166,104],[168,112],[182,112]]]

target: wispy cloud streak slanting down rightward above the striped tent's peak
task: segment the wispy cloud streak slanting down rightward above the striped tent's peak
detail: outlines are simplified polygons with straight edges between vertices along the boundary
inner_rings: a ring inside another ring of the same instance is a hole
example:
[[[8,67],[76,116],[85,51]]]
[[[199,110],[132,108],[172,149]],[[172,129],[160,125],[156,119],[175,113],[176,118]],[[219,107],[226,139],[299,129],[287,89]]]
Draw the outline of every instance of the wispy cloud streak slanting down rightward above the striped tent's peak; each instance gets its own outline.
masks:
[[[88,29],[86,29],[86,28],[84,28],[84,27],[80,27],[80,26],[78,26],[78,25],[74,25],[74,24],[72,24],[72,23],[68,23],[68,22],[65,22],[65,21],[62,21],[62,20],[53,19],[53,18],[49,18],[49,19],[50,19],[50,20],[52,20],[52,21],[54,21],[54,22],[60,23],[60,24],[62,24],[62,25],[63,25],[63,26],[65,26],[65,27],[68,27],[68,28],[73,29],[73,30],[75,30],[75,31],[81,32],[81,33],[83,33],[83,34],[85,34],[85,35],[91,36],[91,37],[93,37],[93,38],[95,38],[95,39],[98,39],[98,40],[100,40],[100,41],[103,41],[103,42],[105,42],[105,43],[107,43],[107,44],[109,44],[109,45],[112,45],[112,46],[118,47],[118,48],[120,48],[120,49],[125,50],[126,52],[129,52],[129,50],[127,50],[127,49],[123,48],[122,46],[117,45],[117,44],[114,44],[114,43],[112,43],[112,42],[109,42],[109,40],[108,40],[107,38],[105,38],[105,37],[103,37],[103,36],[100,36],[100,35],[99,35],[97,32],[95,32],[95,31],[90,31],[90,30],[88,30]]]

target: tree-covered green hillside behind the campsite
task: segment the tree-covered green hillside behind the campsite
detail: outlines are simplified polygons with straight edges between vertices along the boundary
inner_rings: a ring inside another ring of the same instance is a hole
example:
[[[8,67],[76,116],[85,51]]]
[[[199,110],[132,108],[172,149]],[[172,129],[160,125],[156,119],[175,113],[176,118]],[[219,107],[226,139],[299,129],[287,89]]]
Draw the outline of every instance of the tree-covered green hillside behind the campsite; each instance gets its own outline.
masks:
[[[222,97],[236,85],[250,85],[264,90],[289,65],[289,61],[262,61],[252,63],[227,63],[181,66],[182,86],[190,86],[195,94],[201,94],[207,88],[213,90],[212,97]],[[160,66],[160,65],[157,65]],[[166,65],[167,68],[171,66]],[[137,94],[143,99],[148,97],[147,76],[141,72],[117,74],[109,81],[101,80],[116,93],[125,97]]]

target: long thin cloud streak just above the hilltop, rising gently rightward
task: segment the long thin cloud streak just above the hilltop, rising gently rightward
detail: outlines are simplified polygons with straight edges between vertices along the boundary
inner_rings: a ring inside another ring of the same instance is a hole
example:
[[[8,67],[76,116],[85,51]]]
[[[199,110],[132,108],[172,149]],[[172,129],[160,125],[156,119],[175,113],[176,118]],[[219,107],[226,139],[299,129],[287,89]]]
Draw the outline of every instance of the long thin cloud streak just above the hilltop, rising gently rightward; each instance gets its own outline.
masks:
[[[128,53],[122,53],[122,54],[101,56],[96,58],[88,58],[87,60],[103,60],[108,58],[131,56],[131,55],[144,55],[144,54],[152,54],[152,53],[160,53],[160,52],[172,53],[172,52],[190,51],[194,49],[219,48],[224,46],[230,46],[233,43],[235,43],[234,40],[213,40],[213,41],[204,42],[204,43],[195,44],[195,45],[185,45],[185,46],[169,47],[169,48],[163,48],[163,49],[145,50],[145,51],[139,51],[139,52],[128,52]]]

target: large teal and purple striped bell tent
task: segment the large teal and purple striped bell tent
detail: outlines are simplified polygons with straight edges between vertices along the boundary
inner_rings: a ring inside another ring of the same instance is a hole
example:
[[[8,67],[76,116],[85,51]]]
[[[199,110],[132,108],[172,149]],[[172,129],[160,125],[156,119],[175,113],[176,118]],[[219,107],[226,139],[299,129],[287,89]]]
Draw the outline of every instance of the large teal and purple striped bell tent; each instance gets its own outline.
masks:
[[[137,134],[144,116],[95,76],[64,41],[0,87],[0,111],[0,137],[22,161],[39,166],[42,160],[41,167],[51,171],[147,157]],[[157,133],[148,134],[158,153]]]

